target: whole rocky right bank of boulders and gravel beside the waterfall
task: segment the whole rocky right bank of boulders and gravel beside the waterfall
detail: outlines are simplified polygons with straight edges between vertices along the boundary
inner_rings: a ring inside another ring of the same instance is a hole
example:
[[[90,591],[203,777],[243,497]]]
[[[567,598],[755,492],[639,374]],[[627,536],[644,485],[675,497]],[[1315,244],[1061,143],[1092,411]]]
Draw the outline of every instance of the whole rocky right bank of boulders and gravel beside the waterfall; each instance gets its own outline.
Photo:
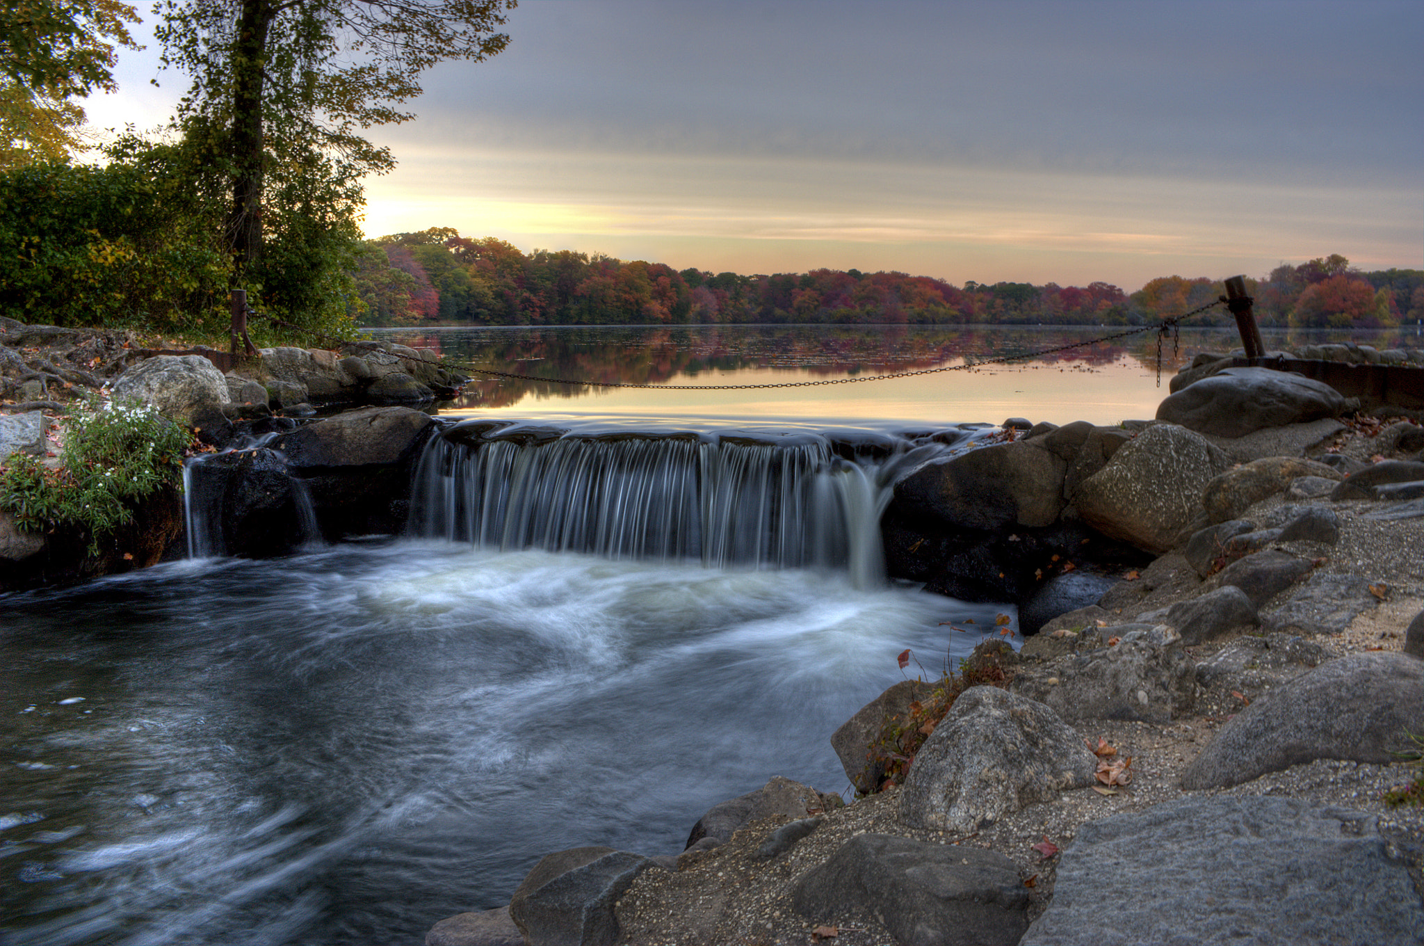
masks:
[[[1383,798],[1420,775],[1424,427],[1353,409],[1230,369],[1153,422],[913,470],[891,561],[1038,627],[981,645],[1005,684],[964,691],[903,785],[842,806],[773,778],[681,853],[551,853],[426,943],[1424,942],[1424,814]],[[836,734],[847,779],[920,695]]]

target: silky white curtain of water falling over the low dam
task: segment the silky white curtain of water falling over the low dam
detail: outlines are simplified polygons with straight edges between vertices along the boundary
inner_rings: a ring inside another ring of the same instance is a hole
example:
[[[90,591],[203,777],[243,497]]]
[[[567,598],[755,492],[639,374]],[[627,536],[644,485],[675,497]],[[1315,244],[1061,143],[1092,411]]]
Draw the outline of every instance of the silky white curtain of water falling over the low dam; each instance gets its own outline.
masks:
[[[870,587],[884,581],[887,463],[903,462],[911,447],[880,440],[857,453],[815,435],[461,425],[426,446],[410,531],[501,550],[844,568],[857,587]]]

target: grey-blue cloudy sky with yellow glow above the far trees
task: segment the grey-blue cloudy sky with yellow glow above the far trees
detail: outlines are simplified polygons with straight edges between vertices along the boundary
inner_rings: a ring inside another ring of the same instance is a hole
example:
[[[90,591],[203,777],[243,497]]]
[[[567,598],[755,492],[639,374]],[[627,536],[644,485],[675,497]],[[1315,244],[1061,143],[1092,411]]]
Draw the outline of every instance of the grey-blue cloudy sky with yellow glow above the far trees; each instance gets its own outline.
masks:
[[[1129,292],[1424,268],[1418,0],[521,0],[506,31],[369,131],[367,236]],[[117,78],[98,127],[187,87],[152,41]]]

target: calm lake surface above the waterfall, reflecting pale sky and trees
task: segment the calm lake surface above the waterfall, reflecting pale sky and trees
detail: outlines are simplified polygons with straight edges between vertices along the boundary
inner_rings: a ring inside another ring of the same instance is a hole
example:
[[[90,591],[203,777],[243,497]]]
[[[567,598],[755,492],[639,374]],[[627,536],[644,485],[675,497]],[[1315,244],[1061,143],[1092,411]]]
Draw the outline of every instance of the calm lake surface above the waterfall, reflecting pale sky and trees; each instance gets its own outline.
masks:
[[[382,333],[444,353],[454,363],[545,379],[655,385],[779,385],[856,375],[961,366],[1091,342],[1122,332],[1102,326],[568,326],[443,328]],[[1377,333],[1376,333],[1377,335]],[[1386,346],[1398,338],[1353,341]],[[1337,333],[1263,331],[1269,349]],[[1413,342],[1413,339],[1410,339]],[[803,422],[1000,423],[1005,417],[1112,425],[1148,419],[1168,380],[1200,350],[1239,346],[1235,328],[1183,329],[1162,350],[1156,376],[1153,331],[1094,343],[1052,359],[944,370],[889,380],[745,390],[564,386],[478,375],[449,416],[598,413],[622,417],[718,417]]]

